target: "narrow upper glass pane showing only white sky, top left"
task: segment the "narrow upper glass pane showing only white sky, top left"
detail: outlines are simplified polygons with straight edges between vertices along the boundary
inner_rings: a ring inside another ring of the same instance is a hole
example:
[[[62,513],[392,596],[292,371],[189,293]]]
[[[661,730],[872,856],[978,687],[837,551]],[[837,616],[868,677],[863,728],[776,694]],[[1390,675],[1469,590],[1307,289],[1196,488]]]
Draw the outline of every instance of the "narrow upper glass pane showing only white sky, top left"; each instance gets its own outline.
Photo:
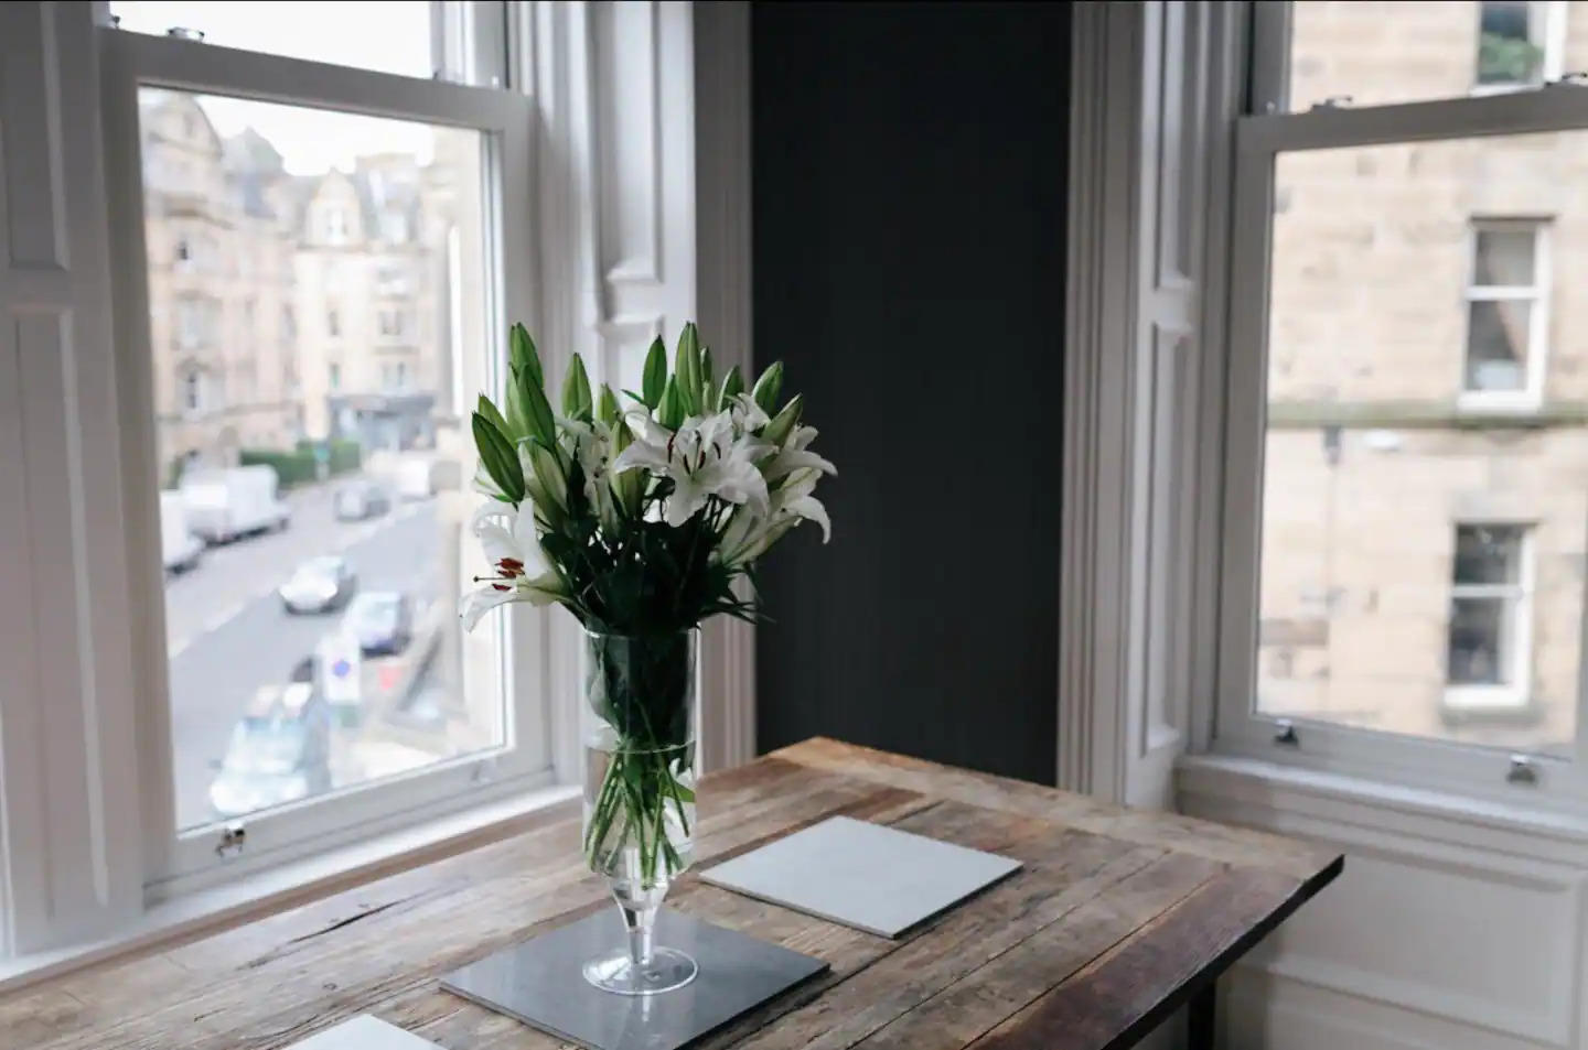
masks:
[[[187,29],[222,48],[426,79],[435,73],[427,0],[114,0],[110,11],[138,33]]]

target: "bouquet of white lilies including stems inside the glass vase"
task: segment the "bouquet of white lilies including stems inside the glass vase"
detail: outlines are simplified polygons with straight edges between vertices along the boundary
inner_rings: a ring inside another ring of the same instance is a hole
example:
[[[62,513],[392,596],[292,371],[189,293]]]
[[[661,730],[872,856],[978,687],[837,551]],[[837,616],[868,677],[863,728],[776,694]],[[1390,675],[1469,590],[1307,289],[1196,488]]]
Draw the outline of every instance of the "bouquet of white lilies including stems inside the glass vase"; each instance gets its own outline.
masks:
[[[753,619],[735,592],[756,560],[800,522],[829,531],[813,493],[832,463],[811,452],[799,397],[780,401],[783,366],[751,390],[716,376],[692,324],[673,370],[651,344],[640,392],[619,409],[592,393],[573,357],[562,414],[546,398],[522,325],[510,346],[507,401],[473,416],[491,500],[473,530],[491,563],[464,596],[473,627],[510,601],[557,603],[584,625],[584,852],[621,902],[656,906],[689,864],[694,823],[694,628],[718,612]]]

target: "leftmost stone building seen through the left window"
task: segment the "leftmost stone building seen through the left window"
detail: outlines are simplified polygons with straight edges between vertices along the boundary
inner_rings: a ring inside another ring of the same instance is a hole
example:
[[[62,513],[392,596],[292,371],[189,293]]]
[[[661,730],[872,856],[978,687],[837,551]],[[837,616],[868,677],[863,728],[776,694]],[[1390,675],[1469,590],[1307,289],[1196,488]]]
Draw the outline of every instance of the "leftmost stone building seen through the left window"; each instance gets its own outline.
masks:
[[[257,136],[222,141],[191,95],[140,103],[160,463],[291,446],[303,404],[281,157]]]

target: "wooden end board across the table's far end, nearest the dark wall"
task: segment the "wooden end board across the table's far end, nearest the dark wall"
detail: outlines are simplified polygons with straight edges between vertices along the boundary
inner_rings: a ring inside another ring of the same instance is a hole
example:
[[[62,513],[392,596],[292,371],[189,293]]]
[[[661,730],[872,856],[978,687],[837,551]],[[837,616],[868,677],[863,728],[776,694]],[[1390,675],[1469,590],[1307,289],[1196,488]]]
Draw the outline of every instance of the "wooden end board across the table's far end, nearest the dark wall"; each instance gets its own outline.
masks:
[[[1270,868],[1307,877],[1337,853],[1297,839],[1250,828],[1199,820],[1183,814],[1121,809],[1085,795],[1010,780],[989,772],[954,769],[921,758],[815,738],[773,752],[773,757],[838,776],[864,777],[972,806],[1045,817],[1069,828],[1142,845],[1196,853],[1226,864]]]

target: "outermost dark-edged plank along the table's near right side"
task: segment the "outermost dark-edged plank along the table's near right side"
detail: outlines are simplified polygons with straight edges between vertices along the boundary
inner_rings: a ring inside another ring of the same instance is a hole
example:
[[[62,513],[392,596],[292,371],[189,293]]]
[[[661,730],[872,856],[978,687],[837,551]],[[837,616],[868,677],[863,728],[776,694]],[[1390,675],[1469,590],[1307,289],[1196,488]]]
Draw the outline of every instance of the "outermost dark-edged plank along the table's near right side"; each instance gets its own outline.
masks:
[[[1288,906],[1299,902],[1299,893],[1302,885],[1282,872],[1228,871],[1159,915],[1142,936],[1120,944],[970,1045],[975,1050],[1134,1045],[1213,980],[1221,961],[1228,966],[1277,925]]]

